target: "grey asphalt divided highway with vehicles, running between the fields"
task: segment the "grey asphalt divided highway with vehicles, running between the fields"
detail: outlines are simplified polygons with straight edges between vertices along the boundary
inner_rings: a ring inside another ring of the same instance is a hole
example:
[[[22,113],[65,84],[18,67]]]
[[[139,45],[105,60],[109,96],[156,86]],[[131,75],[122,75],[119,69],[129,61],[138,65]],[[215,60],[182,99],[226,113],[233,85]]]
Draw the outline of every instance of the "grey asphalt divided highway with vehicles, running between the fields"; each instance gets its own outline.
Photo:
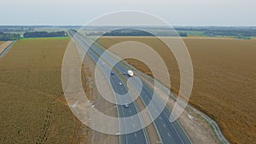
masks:
[[[126,80],[130,77],[126,74],[123,75],[123,72],[127,72],[130,66],[123,62],[116,63],[115,57],[112,53],[108,55],[103,55],[104,48],[96,43],[91,46],[91,42],[89,39],[80,36],[79,34],[75,34],[71,31],[73,35],[73,39],[80,44],[90,55],[90,58],[94,62],[102,62],[101,70],[104,74],[108,74],[114,72],[113,75],[110,75],[110,84],[112,84],[113,90],[119,94],[115,95],[115,99],[119,103],[125,103],[125,101],[132,101],[132,95],[123,96],[120,95],[127,94],[128,88],[125,84]],[[91,46],[89,48],[89,46]],[[99,61],[99,57],[102,56],[102,61]],[[113,65],[114,70],[110,69],[108,65]],[[119,82],[122,85],[119,85]],[[132,84],[137,84],[137,81],[133,81]],[[165,144],[177,143],[177,144],[187,144],[191,143],[189,137],[185,134],[181,126],[175,122],[170,122],[169,118],[171,116],[170,110],[165,107],[160,101],[158,96],[154,95],[153,89],[149,88],[147,84],[142,81],[142,89],[139,94],[141,100],[143,101],[145,106],[150,106],[148,108],[150,115],[153,117],[157,114],[157,118],[154,119],[154,127],[157,130],[157,133],[160,137],[160,142]],[[136,131],[137,128],[143,127],[143,120],[140,115],[137,115],[138,108],[136,102],[131,102],[128,108],[125,108],[123,105],[117,105],[117,110],[120,118],[125,118],[123,121],[119,121],[119,130],[126,131],[128,128],[130,130],[134,129],[135,132],[126,135],[120,135],[119,143],[121,144],[143,144],[149,143],[148,141],[148,132],[143,130]],[[131,117],[132,116],[132,117]],[[130,117],[131,119],[127,118]],[[151,142],[151,143],[155,143]]]

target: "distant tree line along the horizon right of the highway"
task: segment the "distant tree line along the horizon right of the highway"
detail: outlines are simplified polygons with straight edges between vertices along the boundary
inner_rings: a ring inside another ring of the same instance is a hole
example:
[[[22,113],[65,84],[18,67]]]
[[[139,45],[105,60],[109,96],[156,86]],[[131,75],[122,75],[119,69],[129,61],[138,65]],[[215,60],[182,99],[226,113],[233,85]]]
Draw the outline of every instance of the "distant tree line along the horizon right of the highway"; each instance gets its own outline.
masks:
[[[102,27],[100,27],[102,28]],[[105,27],[102,31],[97,31],[99,27],[91,27],[95,31],[86,33],[88,36],[102,35],[102,36],[153,36],[149,32],[153,32],[161,37],[188,37],[188,36],[202,36],[202,37],[235,37],[238,39],[249,39],[256,37],[256,27],[229,27],[229,26],[176,26],[177,32],[170,31],[168,27],[147,27],[143,28],[145,31],[139,30],[140,27],[118,29],[108,32],[111,27]],[[107,32],[104,32],[107,31]],[[178,35],[177,35],[178,33]]]

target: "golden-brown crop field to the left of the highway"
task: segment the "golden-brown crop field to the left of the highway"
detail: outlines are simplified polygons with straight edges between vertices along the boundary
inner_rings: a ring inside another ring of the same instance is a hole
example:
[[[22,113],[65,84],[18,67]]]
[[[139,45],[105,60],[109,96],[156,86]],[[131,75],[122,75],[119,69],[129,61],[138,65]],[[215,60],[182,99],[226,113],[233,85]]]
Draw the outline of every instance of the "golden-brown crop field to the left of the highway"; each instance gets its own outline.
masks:
[[[0,58],[0,141],[70,143],[75,118],[63,101],[68,39],[21,39]]]

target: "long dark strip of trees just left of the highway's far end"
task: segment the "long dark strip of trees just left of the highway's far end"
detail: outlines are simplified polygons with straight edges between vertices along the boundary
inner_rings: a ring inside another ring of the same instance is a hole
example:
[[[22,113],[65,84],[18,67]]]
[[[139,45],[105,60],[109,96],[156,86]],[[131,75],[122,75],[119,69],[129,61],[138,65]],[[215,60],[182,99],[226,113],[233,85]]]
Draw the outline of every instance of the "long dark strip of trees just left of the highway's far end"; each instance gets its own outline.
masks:
[[[25,32],[23,37],[67,37],[67,33],[62,32]]]

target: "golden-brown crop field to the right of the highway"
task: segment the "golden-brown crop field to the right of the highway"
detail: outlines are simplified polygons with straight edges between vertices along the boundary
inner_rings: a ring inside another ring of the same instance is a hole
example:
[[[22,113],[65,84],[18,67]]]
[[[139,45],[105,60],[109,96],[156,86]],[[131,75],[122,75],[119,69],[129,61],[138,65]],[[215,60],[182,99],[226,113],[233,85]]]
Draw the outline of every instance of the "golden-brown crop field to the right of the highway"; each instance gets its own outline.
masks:
[[[104,37],[98,42],[109,48],[127,40],[146,43],[162,56],[170,73],[171,89],[177,94],[180,78],[177,62],[169,49],[156,38]],[[183,41],[189,49],[195,72],[189,103],[214,119],[232,143],[254,143],[256,39],[188,37]],[[127,61],[152,76],[143,62]]]

